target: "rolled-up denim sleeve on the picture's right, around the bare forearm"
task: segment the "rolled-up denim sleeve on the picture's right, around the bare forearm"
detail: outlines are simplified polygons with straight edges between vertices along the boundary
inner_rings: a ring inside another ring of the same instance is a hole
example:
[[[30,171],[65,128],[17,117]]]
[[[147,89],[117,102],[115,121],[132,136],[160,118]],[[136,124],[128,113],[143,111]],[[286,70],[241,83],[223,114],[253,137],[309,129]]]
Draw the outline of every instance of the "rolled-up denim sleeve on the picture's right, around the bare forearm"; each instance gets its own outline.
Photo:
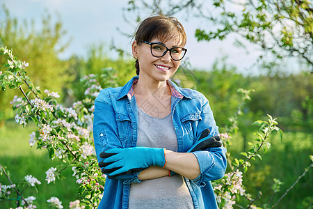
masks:
[[[202,95],[202,94],[201,94]],[[213,112],[209,106],[209,101],[202,95],[202,111],[201,121],[197,127],[197,136],[200,136],[202,130],[209,127],[211,136],[219,135],[218,126],[214,120]],[[210,180],[223,178],[227,167],[226,149],[221,146],[219,148],[208,148],[207,150],[196,151],[193,153],[197,157],[200,175],[193,179],[198,186],[206,185]]]

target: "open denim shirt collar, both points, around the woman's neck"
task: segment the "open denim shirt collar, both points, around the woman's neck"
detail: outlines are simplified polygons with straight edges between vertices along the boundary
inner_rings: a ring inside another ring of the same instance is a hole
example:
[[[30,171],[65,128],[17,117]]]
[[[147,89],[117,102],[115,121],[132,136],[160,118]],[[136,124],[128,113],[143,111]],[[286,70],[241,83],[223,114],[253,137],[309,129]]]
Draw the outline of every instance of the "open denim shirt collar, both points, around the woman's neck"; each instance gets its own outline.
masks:
[[[121,98],[124,98],[125,96],[127,96],[128,99],[131,100],[132,96],[134,95],[133,85],[138,82],[138,78],[139,78],[139,76],[136,75],[136,76],[132,77],[132,79],[130,79],[129,82],[127,82],[127,84],[125,84],[125,86],[122,86],[120,92],[118,93],[118,98],[117,98],[118,100],[120,100]],[[173,97],[179,98],[179,99],[182,99],[182,98],[191,99],[191,97],[188,96],[188,94],[184,92],[184,89],[179,88],[172,81],[168,80],[167,84],[168,84],[168,86],[170,86],[170,91],[171,91]]]

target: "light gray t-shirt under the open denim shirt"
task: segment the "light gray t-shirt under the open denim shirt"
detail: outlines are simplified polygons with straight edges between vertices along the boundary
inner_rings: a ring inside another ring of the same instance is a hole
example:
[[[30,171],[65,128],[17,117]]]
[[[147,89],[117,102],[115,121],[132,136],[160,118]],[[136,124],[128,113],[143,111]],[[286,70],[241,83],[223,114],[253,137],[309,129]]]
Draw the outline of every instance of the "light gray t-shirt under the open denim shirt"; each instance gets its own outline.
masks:
[[[177,151],[177,137],[172,125],[172,115],[154,118],[138,107],[137,146],[166,148]],[[193,200],[179,174],[152,180],[142,180],[130,187],[129,208],[194,208]]]

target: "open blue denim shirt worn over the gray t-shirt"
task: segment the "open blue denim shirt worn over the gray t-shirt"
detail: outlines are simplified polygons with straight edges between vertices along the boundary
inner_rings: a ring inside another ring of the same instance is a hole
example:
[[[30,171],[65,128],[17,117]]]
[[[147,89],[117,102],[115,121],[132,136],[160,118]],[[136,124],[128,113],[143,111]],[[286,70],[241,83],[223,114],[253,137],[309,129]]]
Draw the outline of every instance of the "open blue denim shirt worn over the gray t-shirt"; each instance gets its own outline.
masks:
[[[103,89],[95,100],[93,134],[98,161],[101,160],[99,154],[104,150],[136,146],[138,111],[132,86],[137,79],[138,76],[133,77],[122,87]],[[209,128],[211,136],[219,134],[209,102],[202,93],[179,88],[170,81],[168,85],[172,91],[172,123],[179,153],[186,153],[206,128]],[[218,208],[211,180],[223,178],[225,153],[223,146],[193,153],[201,173],[193,180],[184,180],[195,208]],[[138,173],[129,174],[125,180],[107,178],[98,208],[128,208],[130,184],[140,182]]]

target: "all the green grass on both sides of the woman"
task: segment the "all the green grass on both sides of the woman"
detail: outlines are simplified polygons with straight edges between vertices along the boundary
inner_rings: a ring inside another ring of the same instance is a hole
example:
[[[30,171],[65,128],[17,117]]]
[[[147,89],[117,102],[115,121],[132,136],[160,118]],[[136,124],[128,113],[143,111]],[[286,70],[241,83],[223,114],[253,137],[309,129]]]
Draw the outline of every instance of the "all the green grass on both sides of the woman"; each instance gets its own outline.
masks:
[[[46,150],[36,150],[29,146],[29,134],[35,130],[35,125],[31,124],[23,128],[22,125],[15,124],[15,121],[8,121],[5,126],[0,127],[0,164],[8,167],[11,173],[11,179],[18,183],[27,174],[38,178],[42,183],[39,185],[39,194],[35,194],[31,189],[24,192],[25,196],[37,197],[38,208],[47,208],[46,201],[51,196],[56,196],[63,203],[64,208],[68,208],[70,201],[79,199],[76,190],[78,185],[76,179],[72,176],[72,169],[63,171],[63,180],[56,180],[56,183],[47,184],[45,181],[45,171],[50,167],[56,167],[58,160],[50,161]],[[248,136],[252,137],[252,134]],[[303,173],[304,169],[311,164],[309,155],[312,155],[312,137],[313,133],[305,132],[284,132],[284,138],[280,143],[278,136],[273,134],[268,139],[272,147],[265,155],[263,160],[256,160],[252,167],[248,169],[243,176],[243,185],[246,186],[248,193],[254,198],[259,191],[262,191],[262,197],[255,203],[257,206],[263,206],[271,197],[271,187],[273,178],[280,179],[284,185],[280,192],[273,196],[271,203],[275,203],[282,194],[288,189]],[[242,157],[239,155],[242,151],[243,137],[237,134],[232,138],[233,146],[228,152],[233,157]],[[0,183],[8,185],[8,180],[0,176]],[[312,208],[313,202],[313,169],[300,180],[300,182],[282,199],[277,208]],[[239,201],[241,205],[247,204],[244,198]],[[15,208],[16,205],[11,202],[0,202],[0,208]],[[234,207],[236,208],[236,206]]]

